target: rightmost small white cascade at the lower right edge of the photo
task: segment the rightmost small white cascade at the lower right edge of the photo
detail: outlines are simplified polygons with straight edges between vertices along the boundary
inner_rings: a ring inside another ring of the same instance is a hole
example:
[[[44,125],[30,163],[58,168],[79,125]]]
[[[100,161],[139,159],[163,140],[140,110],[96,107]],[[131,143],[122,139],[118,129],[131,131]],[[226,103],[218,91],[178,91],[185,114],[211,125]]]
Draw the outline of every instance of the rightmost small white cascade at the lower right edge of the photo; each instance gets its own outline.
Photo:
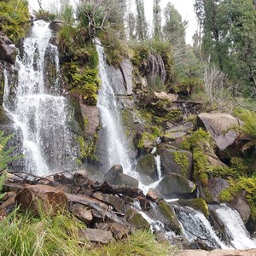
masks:
[[[249,249],[256,247],[256,240],[252,239],[246,230],[240,214],[221,204],[216,210],[218,218],[225,226],[226,236],[230,238],[230,242],[236,249]]]

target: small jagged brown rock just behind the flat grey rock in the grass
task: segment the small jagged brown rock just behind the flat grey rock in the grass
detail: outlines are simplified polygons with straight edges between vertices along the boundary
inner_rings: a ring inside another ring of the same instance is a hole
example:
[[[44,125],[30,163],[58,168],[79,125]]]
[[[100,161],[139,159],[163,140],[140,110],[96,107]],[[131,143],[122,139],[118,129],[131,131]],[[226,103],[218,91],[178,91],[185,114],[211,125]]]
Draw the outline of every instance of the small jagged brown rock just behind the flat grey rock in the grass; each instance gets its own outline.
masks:
[[[107,230],[113,234],[116,239],[123,239],[129,235],[131,230],[124,224],[119,223],[99,223],[96,224],[96,228],[99,230]]]

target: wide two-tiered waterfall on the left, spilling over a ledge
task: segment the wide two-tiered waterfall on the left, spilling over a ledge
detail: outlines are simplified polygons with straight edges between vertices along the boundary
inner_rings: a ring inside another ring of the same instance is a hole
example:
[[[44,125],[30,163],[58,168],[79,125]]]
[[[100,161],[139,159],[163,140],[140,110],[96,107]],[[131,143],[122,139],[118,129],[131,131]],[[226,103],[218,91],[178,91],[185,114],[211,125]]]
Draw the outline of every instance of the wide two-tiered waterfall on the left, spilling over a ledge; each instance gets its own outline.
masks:
[[[22,54],[16,59],[17,81],[12,90],[13,78],[5,72],[3,107],[21,134],[24,168],[37,175],[76,166],[72,135],[67,129],[67,100],[58,93],[61,78],[58,51],[49,44],[50,38],[49,23],[35,21],[32,32],[24,40]],[[45,62],[47,56],[54,62],[55,76],[51,84],[45,71],[49,65]],[[54,96],[49,94],[50,90]]]

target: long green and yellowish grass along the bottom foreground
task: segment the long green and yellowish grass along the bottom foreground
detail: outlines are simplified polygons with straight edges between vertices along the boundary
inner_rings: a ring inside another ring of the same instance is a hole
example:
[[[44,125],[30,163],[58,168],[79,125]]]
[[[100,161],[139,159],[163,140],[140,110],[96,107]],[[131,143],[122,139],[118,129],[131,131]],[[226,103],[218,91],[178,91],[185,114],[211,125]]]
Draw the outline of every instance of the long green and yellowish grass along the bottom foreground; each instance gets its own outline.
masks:
[[[52,256],[52,255],[175,255],[176,247],[158,243],[150,231],[137,230],[125,241],[113,241],[107,246],[93,247],[79,236],[85,228],[68,212],[55,217],[41,213],[39,218],[17,209],[0,222],[0,255]]]

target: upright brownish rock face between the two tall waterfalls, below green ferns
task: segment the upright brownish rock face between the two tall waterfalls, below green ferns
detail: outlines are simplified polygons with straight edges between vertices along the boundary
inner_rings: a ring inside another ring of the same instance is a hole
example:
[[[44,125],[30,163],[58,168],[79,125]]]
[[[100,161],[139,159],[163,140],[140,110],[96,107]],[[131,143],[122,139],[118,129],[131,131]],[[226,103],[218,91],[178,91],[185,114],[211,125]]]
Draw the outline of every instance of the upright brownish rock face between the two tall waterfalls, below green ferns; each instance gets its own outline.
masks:
[[[99,109],[96,106],[84,104],[82,101],[79,101],[79,105],[85,120],[84,133],[91,139],[96,134],[97,128],[100,125]]]

